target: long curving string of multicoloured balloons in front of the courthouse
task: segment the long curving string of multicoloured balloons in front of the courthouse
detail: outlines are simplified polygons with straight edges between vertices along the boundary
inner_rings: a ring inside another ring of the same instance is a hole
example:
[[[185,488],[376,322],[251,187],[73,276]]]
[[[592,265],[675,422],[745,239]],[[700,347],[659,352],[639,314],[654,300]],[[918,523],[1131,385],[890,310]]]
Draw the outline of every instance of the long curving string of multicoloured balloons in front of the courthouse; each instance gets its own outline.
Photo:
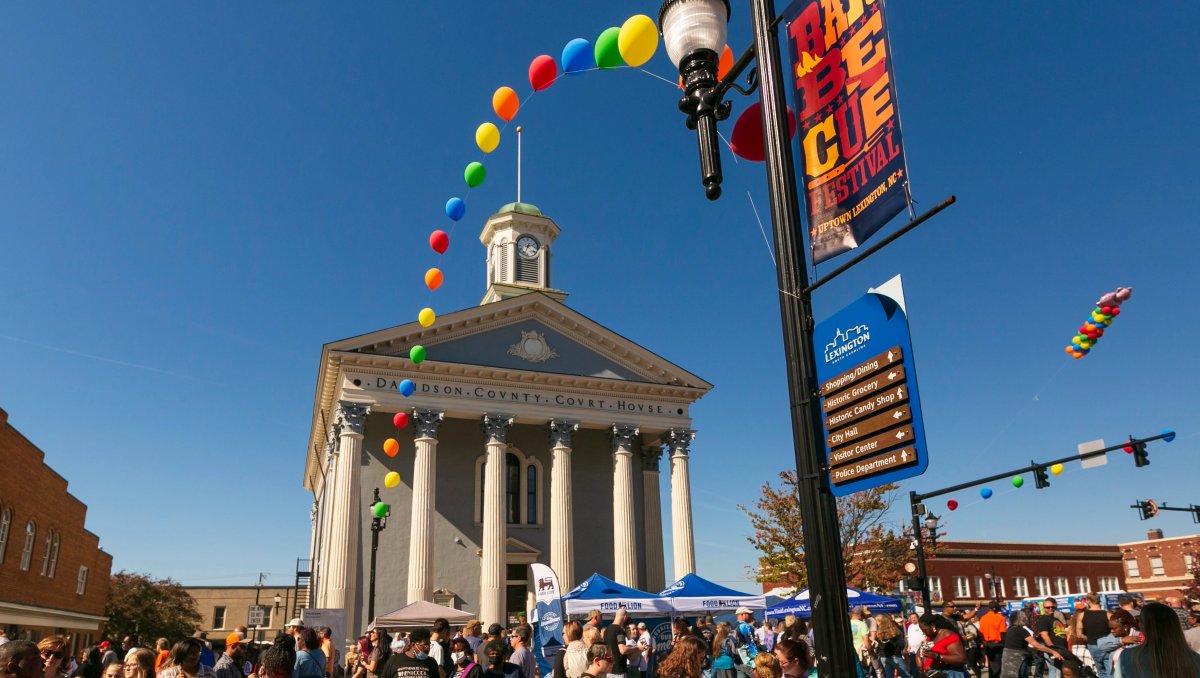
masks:
[[[582,37],[571,40],[563,47],[562,58],[556,60],[548,54],[542,54],[529,64],[529,85],[534,92],[542,91],[554,84],[562,76],[577,76],[588,71],[618,68],[623,66],[638,67],[654,56],[659,47],[659,29],[654,19],[637,14],[630,17],[620,26],[605,29],[596,38],[595,43]],[[733,66],[733,52],[726,47],[720,60],[720,74],[724,76]],[[521,97],[510,86],[498,88],[492,94],[492,112],[499,118],[500,125],[488,120],[475,128],[475,145],[485,155],[491,154],[500,146],[500,134],[503,128],[516,118],[521,110]],[[517,127],[517,131],[521,128]],[[480,161],[467,164],[462,172],[463,182],[468,193],[472,188],[478,188],[487,180],[487,167]],[[446,200],[445,215],[452,224],[467,216],[467,200],[455,196]],[[450,248],[450,234],[442,229],[430,233],[430,248],[440,258]],[[433,266],[425,271],[425,287],[430,292],[437,292],[445,282],[442,269]],[[426,306],[416,314],[416,322],[422,328],[431,328],[437,322],[437,312]],[[408,359],[413,365],[425,361],[426,349],[415,344],[409,348]],[[416,391],[416,385],[410,379],[404,379],[397,385],[397,390],[404,397],[412,396]],[[400,412],[392,418],[392,424],[397,430],[408,426],[408,414]],[[396,438],[388,438],[383,443],[383,451],[394,458],[400,454],[400,442]],[[384,476],[384,486],[394,488],[400,485],[400,474],[389,472]],[[377,517],[383,517],[390,509],[384,503],[372,506],[372,512]]]

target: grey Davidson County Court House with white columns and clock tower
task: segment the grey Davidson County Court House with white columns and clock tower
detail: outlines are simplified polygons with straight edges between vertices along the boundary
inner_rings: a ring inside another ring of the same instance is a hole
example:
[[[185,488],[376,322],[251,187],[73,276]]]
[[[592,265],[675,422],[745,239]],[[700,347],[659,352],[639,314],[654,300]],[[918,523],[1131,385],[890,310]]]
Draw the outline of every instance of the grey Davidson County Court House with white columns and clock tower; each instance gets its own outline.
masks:
[[[348,632],[368,622],[376,487],[391,508],[377,614],[430,600],[485,625],[512,620],[528,606],[534,562],[564,588],[599,571],[656,592],[695,570],[689,408],[712,385],[564,305],[551,287],[558,233],[538,208],[505,205],[480,234],[479,306],[323,348],[304,478],[312,605],[347,610]],[[420,365],[409,360],[415,344],[428,352]],[[415,383],[408,397],[404,379]],[[403,431],[397,412],[410,416]],[[394,457],[388,438],[400,443]],[[398,487],[384,487],[389,472]]]

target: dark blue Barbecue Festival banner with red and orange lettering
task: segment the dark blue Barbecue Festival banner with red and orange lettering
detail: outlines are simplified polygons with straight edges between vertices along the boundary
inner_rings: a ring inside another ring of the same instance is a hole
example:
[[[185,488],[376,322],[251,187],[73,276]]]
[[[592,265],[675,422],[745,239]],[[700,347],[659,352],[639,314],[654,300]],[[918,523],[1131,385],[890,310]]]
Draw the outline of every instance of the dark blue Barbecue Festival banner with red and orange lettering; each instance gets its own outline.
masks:
[[[908,204],[883,0],[784,12],[812,264],[853,250]]]

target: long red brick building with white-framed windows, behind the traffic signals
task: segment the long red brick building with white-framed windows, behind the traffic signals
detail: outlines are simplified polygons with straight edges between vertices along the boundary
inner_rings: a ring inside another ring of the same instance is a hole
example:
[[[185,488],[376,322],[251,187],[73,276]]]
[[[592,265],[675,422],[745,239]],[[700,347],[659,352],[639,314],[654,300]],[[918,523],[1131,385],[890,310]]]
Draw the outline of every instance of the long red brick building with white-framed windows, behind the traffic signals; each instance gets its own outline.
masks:
[[[1121,551],[1100,544],[943,541],[926,563],[935,602],[1123,590]],[[995,593],[994,593],[995,592]]]

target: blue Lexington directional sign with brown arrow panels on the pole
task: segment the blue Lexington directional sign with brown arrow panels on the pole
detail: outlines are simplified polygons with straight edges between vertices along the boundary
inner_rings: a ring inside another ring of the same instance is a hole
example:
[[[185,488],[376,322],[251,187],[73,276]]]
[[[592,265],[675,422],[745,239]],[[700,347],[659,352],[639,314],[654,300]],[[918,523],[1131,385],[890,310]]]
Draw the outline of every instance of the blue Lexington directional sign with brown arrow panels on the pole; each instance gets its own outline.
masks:
[[[900,277],[818,324],[812,348],[834,496],[925,473],[925,425]]]

